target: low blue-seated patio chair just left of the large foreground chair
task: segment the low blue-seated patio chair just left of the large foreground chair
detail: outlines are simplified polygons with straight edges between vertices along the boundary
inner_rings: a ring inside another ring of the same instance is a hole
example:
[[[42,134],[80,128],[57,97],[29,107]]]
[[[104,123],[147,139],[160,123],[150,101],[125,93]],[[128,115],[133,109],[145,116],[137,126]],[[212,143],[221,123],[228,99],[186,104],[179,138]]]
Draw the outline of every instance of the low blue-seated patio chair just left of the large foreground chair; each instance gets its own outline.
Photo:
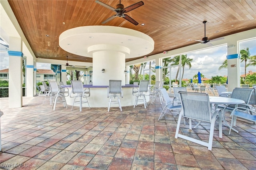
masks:
[[[164,101],[165,101],[164,109],[166,108],[166,110],[165,111],[164,111],[164,109],[162,110],[158,120],[165,115],[165,113],[168,109],[169,110],[177,110],[177,113],[179,113],[179,110],[182,109],[182,107],[180,105],[180,101],[172,101],[165,88],[160,88],[160,92],[162,93],[162,96],[164,98]]]

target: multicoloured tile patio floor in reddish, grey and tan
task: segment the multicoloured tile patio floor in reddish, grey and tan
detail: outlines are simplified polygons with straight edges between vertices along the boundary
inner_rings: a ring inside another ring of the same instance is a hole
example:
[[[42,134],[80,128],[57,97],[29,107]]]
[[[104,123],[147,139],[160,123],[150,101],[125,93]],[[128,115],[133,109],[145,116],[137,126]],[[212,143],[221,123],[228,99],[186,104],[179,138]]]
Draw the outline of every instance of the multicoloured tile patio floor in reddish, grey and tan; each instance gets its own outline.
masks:
[[[21,108],[8,109],[0,98],[1,169],[26,170],[255,170],[256,125],[237,121],[223,138],[214,131],[212,151],[184,139],[175,139],[176,111],[158,121],[164,107],[156,100],[133,108],[105,108],[57,104],[42,105],[44,97],[24,97]],[[226,116],[228,116],[226,114]],[[230,121],[230,118],[228,118]],[[187,125],[188,126],[188,125]],[[182,125],[184,127],[184,125]],[[208,124],[192,131],[207,139]],[[186,132],[186,131],[184,131]],[[15,168],[16,166],[16,168]],[[18,166],[18,167],[17,167]],[[22,166],[22,167],[21,167]]]

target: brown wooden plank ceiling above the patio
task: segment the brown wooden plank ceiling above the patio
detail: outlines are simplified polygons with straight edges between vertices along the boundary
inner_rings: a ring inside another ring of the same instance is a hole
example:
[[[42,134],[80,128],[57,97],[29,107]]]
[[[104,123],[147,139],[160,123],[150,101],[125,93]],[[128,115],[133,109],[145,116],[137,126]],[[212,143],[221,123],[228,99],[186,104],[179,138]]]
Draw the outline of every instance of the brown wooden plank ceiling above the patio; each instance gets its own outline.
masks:
[[[119,4],[119,0],[100,1],[113,8]],[[118,17],[102,24],[116,13],[94,0],[8,2],[34,54],[46,59],[66,60],[68,56],[69,61],[92,62],[90,57],[67,53],[58,46],[63,31],[79,26],[112,25],[141,31],[154,39],[154,51],[148,56],[198,43],[194,40],[204,37],[204,20],[209,39],[256,28],[255,0],[143,0],[143,6],[126,13],[138,25]],[[121,4],[127,7],[136,2],[122,0]]]

